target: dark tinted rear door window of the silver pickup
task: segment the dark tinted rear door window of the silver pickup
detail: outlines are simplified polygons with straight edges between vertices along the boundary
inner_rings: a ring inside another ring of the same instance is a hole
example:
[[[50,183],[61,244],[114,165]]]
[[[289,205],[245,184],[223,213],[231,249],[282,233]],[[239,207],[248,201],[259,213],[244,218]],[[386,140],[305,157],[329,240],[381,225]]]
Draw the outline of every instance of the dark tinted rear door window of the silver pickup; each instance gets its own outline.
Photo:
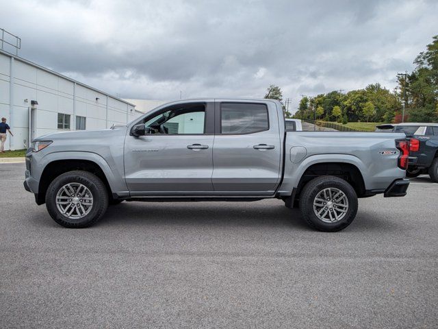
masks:
[[[268,108],[265,104],[221,103],[221,134],[253,134],[269,130]]]

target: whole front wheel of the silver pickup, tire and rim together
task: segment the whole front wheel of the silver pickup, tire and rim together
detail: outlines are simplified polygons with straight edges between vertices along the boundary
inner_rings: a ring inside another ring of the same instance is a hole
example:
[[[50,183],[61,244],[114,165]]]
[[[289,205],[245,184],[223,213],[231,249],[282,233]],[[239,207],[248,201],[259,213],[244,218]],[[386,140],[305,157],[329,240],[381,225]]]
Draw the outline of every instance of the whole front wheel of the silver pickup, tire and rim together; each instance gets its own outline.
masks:
[[[107,189],[88,171],[68,171],[47,188],[46,207],[56,223],[66,228],[86,228],[105,214]]]

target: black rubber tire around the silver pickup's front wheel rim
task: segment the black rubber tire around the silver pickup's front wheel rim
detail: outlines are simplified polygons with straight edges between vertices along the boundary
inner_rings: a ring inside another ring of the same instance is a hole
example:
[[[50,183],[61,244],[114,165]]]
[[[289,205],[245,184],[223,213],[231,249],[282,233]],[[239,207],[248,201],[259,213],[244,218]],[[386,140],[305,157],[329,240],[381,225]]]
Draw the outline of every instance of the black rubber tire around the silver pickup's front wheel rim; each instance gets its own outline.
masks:
[[[79,183],[86,186],[92,194],[92,206],[87,215],[79,219],[70,219],[57,208],[56,196],[58,191],[69,183]],[[99,221],[108,207],[108,193],[105,184],[88,171],[68,171],[59,175],[51,182],[46,193],[46,208],[53,220],[65,228],[87,228]]]

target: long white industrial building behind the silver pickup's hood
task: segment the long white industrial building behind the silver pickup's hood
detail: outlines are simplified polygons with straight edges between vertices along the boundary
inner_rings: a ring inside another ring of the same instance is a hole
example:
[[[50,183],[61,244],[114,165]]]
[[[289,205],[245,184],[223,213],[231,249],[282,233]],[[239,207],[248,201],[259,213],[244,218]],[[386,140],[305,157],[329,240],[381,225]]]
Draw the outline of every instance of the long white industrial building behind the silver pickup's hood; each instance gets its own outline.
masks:
[[[53,132],[124,124],[140,114],[129,101],[0,50],[0,117],[14,134],[5,149],[25,149],[32,138]]]

